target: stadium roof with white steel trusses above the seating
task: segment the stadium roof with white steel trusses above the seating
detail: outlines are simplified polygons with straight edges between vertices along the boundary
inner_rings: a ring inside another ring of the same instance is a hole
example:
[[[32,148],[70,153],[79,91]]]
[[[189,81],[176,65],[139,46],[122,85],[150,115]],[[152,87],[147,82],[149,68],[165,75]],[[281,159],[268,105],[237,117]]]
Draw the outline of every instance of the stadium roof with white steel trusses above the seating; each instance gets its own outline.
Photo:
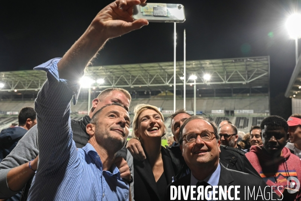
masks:
[[[85,76],[95,81],[104,79],[104,84],[95,82],[91,85],[99,89],[173,90],[173,65],[173,62],[156,62],[90,66],[86,68]],[[183,65],[183,61],[176,62],[177,89],[183,89]],[[186,61],[185,83],[192,84],[188,78],[195,75],[196,85],[200,88],[268,88],[269,65],[269,56],[190,60]],[[211,79],[205,80],[205,74],[211,75]],[[0,72],[0,82],[5,84],[0,92],[39,91],[45,80],[43,71]]]

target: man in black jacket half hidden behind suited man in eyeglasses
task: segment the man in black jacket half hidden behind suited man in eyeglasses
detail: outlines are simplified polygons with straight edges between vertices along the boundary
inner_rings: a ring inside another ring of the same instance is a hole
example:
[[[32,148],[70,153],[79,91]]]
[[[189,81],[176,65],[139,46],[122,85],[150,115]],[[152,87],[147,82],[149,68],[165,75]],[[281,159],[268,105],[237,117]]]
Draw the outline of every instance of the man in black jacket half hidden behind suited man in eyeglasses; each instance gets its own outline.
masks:
[[[190,173],[190,170],[184,161],[182,152],[179,147],[180,127],[183,124],[184,120],[186,120],[190,116],[191,115],[184,109],[179,109],[170,116],[171,132],[173,134],[174,140],[176,141],[176,144],[167,149],[169,150],[170,156],[172,158],[173,168],[175,170],[177,178],[181,178]],[[145,158],[145,155],[143,153],[143,149],[141,148],[141,150],[139,148],[139,145],[141,146],[140,142],[137,139],[131,139],[127,144],[127,148],[130,150],[134,158],[138,158],[137,160],[142,160],[143,158]],[[251,163],[248,161],[248,159],[245,157],[245,154],[238,149],[221,145],[220,162],[228,169],[249,173],[261,178],[260,175],[258,175],[257,171],[253,168]]]

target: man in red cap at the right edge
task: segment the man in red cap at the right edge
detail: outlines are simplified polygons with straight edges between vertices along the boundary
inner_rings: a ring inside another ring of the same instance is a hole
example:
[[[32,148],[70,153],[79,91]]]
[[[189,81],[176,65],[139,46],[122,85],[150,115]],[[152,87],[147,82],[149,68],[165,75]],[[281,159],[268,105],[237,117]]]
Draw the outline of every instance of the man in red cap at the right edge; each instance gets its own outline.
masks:
[[[301,114],[292,114],[288,120],[289,142],[286,144],[290,152],[301,158]]]

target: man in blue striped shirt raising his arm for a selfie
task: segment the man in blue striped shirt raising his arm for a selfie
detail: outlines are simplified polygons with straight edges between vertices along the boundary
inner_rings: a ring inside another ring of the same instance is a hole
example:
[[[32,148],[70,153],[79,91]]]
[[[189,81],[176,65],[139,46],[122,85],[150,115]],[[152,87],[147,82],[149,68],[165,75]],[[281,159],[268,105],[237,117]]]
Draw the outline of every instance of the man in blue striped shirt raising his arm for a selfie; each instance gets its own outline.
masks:
[[[129,185],[114,165],[115,153],[125,145],[129,133],[128,112],[116,104],[97,111],[86,128],[87,145],[77,150],[70,128],[70,100],[73,96],[76,101],[85,66],[108,39],[148,24],[131,18],[132,7],[144,2],[117,0],[110,4],[62,59],[35,68],[47,72],[47,81],[35,101],[39,165],[29,200],[129,199]]]

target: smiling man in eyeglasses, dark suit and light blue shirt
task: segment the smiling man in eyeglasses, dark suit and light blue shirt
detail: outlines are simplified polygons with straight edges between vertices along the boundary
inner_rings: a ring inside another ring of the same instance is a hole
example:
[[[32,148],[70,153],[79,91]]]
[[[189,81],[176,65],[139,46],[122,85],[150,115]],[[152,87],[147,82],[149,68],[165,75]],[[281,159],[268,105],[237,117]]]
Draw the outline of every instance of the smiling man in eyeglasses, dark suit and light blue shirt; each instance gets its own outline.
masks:
[[[187,189],[186,186],[204,186],[204,188],[209,186],[208,191],[211,192],[213,192],[213,186],[226,186],[227,190],[230,191],[227,191],[227,194],[230,196],[227,196],[225,200],[231,200],[235,193],[234,188],[230,189],[229,186],[240,186],[237,197],[241,200],[265,200],[264,197],[260,196],[245,197],[245,189],[247,188],[244,188],[244,186],[249,186],[252,190],[254,187],[256,193],[259,187],[264,189],[267,186],[262,179],[254,175],[227,169],[220,163],[221,142],[217,126],[213,121],[202,116],[189,117],[180,128],[179,143],[182,155],[191,173],[167,187],[166,200],[170,200],[171,196],[174,196],[174,186],[178,190],[183,189],[182,187],[178,188],[178,186],[185,186],[185,189]],[[191,190],[188,191],[188,197],[186,198],[183,197],[182,192],[178,192],[182,195],[180,199],[192,200],[191,196],[196,197],[198,194],[196,188],[194,188],[194,193],[191,193]],[[262,194],[268,197],[268,191],[270,189],[266,189],[266,192],[262,192]],[[218,193],[216,194],[218,198],[215,199],[213,197],[209,198],[209,194],[205,192],[205,199],[202,200],[220,200]],[[209,197],[206,198],[206,196]]]

